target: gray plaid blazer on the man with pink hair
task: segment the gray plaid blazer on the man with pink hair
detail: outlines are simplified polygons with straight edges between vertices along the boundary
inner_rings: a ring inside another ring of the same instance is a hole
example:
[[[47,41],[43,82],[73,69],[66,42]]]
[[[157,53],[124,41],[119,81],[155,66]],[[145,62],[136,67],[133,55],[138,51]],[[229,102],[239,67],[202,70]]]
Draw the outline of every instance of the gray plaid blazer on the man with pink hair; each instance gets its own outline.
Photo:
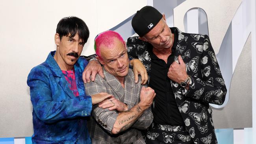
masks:
[[[124,78],[124,88],[121,83],[103,67],[105,78],[96,75],[95,81],[85,84],[85,91],[88,95],[107,92],[113,94],[115,98],[128,105],[131,109],[139,103],[139,94],[141,91],[141,79],[136,84],[134,73],[129,68],[127,76]],[[117,135],[112,135],[111,130],[117,119],[116,110],[109,111],[102,109],[98,105],[93,106],[92,117],[87,121],[87,127],[93,144],[145,144],[139,129],[147,129],[153,120],[151,109],[148,108],[141,117],[126,131]]]

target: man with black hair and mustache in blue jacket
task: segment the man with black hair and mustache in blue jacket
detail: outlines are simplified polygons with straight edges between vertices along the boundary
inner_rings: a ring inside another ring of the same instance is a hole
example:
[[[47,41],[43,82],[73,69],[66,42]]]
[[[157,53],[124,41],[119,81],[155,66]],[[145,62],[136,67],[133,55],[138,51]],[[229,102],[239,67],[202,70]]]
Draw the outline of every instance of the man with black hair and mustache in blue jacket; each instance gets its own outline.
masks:
[[[62,18],[55,34],[56,51],[28,75],[33,105],[33,144],[90,144],[85,118],[92,106],[113,95],[85,94],[82,72],[87,61],[79,57],[89,30],[80,18]]]

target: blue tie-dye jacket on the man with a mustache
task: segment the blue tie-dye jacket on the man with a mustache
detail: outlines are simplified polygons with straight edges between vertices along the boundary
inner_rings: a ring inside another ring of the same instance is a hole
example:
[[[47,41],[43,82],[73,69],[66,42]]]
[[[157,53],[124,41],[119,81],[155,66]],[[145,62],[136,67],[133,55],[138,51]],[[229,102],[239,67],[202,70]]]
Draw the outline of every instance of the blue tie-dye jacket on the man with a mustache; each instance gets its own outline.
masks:
[[[46,61],[28,75],[33,105],[32,142],[37,144],[90,144],[86,116],[91,115],[91,96],[86,96],[82,72],[88,62],[80,57],[74,65],[80,96],[75,97],[50,52]]]

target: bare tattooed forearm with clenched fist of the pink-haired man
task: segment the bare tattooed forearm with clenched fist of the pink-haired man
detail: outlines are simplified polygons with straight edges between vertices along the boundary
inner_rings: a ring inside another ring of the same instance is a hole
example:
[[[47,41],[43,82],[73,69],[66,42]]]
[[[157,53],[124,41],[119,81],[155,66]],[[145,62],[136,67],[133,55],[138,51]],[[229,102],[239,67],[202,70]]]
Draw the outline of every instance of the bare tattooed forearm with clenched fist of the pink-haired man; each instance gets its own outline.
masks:
[[[136,122],[141,114],[143,114],[143,112],[151,106],[155,96],[156,93],[154,93],[153,89],[150,87],[142,87],[140,93],[140,102],[130,110],[119,113],[111,133],[117,134],[132,126],[132,124]]]

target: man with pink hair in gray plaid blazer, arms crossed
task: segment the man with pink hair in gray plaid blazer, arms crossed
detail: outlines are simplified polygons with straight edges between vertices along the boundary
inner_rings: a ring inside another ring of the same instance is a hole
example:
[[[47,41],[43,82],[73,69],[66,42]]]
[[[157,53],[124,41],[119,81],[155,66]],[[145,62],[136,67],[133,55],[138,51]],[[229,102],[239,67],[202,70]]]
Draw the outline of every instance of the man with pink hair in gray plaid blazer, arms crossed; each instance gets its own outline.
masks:
[[[95,39],[96,59],[102,64],[104,78],[86,83],[89,95],[107,92],[114,97],[93,106],[88,129],[93,144],[144,144],[141,131],[153,120],[151,104],[155,92],[135,83],[129,68],[126,44],[115,31],[100,33]]]

